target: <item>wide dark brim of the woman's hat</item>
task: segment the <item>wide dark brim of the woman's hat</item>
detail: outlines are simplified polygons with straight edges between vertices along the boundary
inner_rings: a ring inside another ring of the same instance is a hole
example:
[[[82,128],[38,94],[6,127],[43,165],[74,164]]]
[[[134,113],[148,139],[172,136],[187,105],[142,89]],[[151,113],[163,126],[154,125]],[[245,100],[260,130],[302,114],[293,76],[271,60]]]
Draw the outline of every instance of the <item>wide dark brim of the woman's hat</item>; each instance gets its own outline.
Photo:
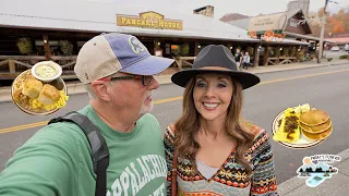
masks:
[[[206,74],[206,73],[219,73],[219,74],[227,74],[230,75],[233,79],[237,79],[242,85],[243,89],[250,88],[261,82],[260,77],[248,73],[248,72],[238,72],[238,71],[224,71],[224,70],[183,70],[177,72],[172,75],[171,81],[172,83],[177,84],[178,86],[185,87],[188,82],[198,74]]]

